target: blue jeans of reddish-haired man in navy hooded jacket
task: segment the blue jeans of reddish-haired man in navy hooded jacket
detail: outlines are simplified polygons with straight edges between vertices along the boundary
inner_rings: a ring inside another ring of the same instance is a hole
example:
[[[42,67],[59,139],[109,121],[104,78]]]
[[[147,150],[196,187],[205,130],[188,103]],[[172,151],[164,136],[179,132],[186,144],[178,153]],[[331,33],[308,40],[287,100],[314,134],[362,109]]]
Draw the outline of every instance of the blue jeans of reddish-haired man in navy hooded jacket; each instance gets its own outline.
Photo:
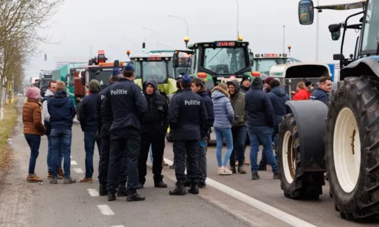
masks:
[[[51,167],[53,178],[58,174],[58,157],[63,154],[64,178],[70,178],[71,129],[51,129]]]

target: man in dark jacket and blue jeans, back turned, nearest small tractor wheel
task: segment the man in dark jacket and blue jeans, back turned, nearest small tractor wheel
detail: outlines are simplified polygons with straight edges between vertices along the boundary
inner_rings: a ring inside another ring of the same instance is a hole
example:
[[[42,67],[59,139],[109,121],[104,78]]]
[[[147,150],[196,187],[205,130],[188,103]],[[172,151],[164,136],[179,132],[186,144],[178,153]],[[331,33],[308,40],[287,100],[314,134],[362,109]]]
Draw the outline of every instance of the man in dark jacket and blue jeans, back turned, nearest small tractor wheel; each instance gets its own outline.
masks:
[[[267,93],[263,91],[263,81],[255,77],[250,89],[245,95],[246,111],[248,112],[248,132],[250,136],[250,161],[252,162],[252,179],[259,179],[256,162],[259,142],[267,162],[272,167],[273,178],[279,179],[276,159],[272,151],[272,132],[274,127],[274,110]]]

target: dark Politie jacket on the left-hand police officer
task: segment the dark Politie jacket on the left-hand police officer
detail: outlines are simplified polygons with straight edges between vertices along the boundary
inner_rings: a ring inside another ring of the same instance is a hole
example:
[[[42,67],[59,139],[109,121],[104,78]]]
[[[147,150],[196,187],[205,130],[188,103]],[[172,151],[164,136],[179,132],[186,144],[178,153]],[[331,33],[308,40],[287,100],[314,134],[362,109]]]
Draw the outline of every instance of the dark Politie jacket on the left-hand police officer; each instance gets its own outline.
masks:
[[[140,119],[146,112],[146,98],[141,88],[127,78],[121,78],[105,94],[102,109],[112,112],[110,131],[133,128],[140,130]]]

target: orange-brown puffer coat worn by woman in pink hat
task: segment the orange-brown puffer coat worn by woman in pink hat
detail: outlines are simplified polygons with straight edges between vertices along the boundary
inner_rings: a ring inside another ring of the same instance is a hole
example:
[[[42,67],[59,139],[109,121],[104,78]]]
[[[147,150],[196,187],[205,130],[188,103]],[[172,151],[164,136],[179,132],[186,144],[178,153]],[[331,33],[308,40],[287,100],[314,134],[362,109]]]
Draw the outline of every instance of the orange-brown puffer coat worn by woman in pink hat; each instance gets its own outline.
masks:
[[[28,98],[22,107],[22,122],[24,134],[43,135],[45,127],[42,124],[41,104],[35,99]]]

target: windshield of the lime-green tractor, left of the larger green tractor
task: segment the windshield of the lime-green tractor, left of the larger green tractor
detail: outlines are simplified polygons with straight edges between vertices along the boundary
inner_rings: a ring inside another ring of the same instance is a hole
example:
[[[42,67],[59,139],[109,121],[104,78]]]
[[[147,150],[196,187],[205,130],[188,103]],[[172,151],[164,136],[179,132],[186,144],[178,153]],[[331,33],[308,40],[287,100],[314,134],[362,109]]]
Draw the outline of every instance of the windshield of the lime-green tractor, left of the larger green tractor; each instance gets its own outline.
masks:
[[[134,65],[136,75],[134,78],[141,78],[142,82],[150,78],[155,78],[158,83],[166,83],[167,78],[174,78],[174,71],[170,61],[143,61]],[[141,75],[141,72],[143,75]]]

